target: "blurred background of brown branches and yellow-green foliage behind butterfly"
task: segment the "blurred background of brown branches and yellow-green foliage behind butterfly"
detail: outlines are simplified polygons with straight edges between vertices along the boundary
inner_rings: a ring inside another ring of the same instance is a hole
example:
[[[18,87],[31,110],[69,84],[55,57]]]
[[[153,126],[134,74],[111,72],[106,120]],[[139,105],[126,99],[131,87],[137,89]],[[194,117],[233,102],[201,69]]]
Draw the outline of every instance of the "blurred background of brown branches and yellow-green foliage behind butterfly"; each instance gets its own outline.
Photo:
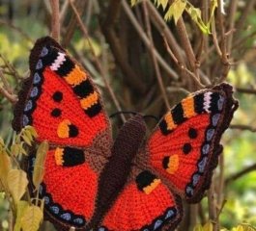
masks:
[[[240,108],[223,136],[213,187],[200,204],[186,206],[180,230],[209,219],[219,229],[256,226],[256,1],[185,1],[177,23],[170,16],[173,1],[167,2],[132,1],[131,7],[130,1],[61,0],[60,42],[91,73],[108,115],[122,109],[160,117],[166,104],[189,92],[232,84]],[[30,49],[51,34],[53,18],[47,0],[0,0],[0,137],[6,143],[14,137],[15,94],[29,76]],[[115,133],[123,122],[119,116],[111,121]],[[0,230],[8,230],[8,209],[0,192]],[[53,230],[46,225],[42,230]]]

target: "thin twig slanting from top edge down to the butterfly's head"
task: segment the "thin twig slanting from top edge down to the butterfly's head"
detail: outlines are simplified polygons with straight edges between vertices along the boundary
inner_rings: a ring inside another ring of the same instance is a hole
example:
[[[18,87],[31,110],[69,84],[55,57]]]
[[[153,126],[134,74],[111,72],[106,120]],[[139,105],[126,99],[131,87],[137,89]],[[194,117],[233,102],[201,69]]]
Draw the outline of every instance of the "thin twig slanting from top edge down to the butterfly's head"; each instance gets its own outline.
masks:
[[[89,36],[88,36],[88,33],[87,33],[87,29],[85,28],[85,25],[83,24],[82,19],[81,19],[79,13],[77,12],[75,6],[73,5],[72,0],[69,0],[69,1],[70,1],[71,9],[72,9],[73,13],[75,14],[76,20],[77,20],[77,22],[78,22],[78,24],[79,24],[79,26],[80,26],[80,29],[81,29],[81,31],[82,31],[82,33],[83,33],[85,39],[88,40],[88,44],[89,44],[90,49],[91,49],[91,52],[92,52],[92,54],[93,54],[95,63],[97,64],[97,67],[98,67],[98,69],[100,70],[100,74],[101,74],[101,77],[102,77],[102,79],[103,79],[103,81],[104,81],[105,87],[106,87],[106,89],[108,90],[108,92],[109,92],[109,94],[110,94],[110,96],[111,96],[111,98],[112,98],[112,100],[113,100],[113,102],[114,102],[114,104],[115,104],[117,110],[121,112],[121,111],[122,111],[122,110],[121,110],[121,106],[120,106],[120,104],[119,104],[119,102],[118,102],[118,100],[117,100],[117,98],[116,98],[116,96],[115,96],[114,91],[111,89],[111,87],[110,87],[110,85],[109,85],[109,83],[108,83],[108,81],[107,81],[107,79],[106,79],[106,76],[104,75],[104,72],[103,72],[103,70],[102,70],[102,68],[101,68],[101,65],[100,65],[100,61],[99,61],[99,59],[97,58],[97,55],[96,55],[96,53],[95,53],[95,50],[94,50],[94,48],[93,48],[93,46],[92,46],[92,43],[91,43],[91,41],[90,41],[90,39],[89,39]],[[126,121],[126,117],[125,117],[124,115],[121,115],[121,118],[122,118],[123,122]]]

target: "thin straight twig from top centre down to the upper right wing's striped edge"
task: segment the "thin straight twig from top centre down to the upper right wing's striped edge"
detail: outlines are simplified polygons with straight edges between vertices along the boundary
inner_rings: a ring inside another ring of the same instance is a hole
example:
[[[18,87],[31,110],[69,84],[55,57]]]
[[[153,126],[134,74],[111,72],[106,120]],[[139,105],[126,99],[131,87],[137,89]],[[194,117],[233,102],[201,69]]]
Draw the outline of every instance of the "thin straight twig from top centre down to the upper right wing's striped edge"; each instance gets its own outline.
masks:
[[[168,102],[166,91],[165,91],[163,83],[162,83],[160,69],[159,69],[159,66],[158,66],[157,61],[156,61],[156,55],[154,53],[155,45],[154,45],[154,40],[152,38],[152,33],[151,33],[151,24],[150,24],[150,19],[149,19],[148,6],[146,5],[145,0],[142,2],[142,6],[143,6],[144,14],[145,14],[145,22],[146,22],[147,34],[148,34],[148,37],[149,37],[150,42],[151,42],[150,53],[151,53],[151,56],[152,56],[154,67],[156,69],[157,82],[158,82],[159,88],[161,90],[161,95],[162,95],[162,98],[164,100],[166,109],[169,111],[170,110],[170,105],[169,105],[169,102]]]

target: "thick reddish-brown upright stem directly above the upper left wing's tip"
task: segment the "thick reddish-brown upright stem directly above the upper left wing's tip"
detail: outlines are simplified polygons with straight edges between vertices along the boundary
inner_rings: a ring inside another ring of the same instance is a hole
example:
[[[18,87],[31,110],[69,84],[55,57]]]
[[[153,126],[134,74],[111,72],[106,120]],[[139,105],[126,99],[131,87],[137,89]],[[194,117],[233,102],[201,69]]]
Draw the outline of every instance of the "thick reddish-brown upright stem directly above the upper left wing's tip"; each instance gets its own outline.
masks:
[[[50,0],[51,6],[51,36],[53,39],[60,40],[60,12],[59,0]]]

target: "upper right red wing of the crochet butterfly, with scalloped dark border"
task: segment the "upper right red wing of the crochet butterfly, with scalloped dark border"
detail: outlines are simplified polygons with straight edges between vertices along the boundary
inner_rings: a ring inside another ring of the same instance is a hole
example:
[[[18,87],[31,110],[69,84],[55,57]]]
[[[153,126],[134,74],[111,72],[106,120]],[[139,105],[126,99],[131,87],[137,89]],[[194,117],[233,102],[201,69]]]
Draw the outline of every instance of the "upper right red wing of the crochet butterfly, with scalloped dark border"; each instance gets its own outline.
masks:
[[[151,136],[150,165],[186,200],[200,200],[209,188],[220,137],[237,107],[226,84],[200,91],[167,113]]]

